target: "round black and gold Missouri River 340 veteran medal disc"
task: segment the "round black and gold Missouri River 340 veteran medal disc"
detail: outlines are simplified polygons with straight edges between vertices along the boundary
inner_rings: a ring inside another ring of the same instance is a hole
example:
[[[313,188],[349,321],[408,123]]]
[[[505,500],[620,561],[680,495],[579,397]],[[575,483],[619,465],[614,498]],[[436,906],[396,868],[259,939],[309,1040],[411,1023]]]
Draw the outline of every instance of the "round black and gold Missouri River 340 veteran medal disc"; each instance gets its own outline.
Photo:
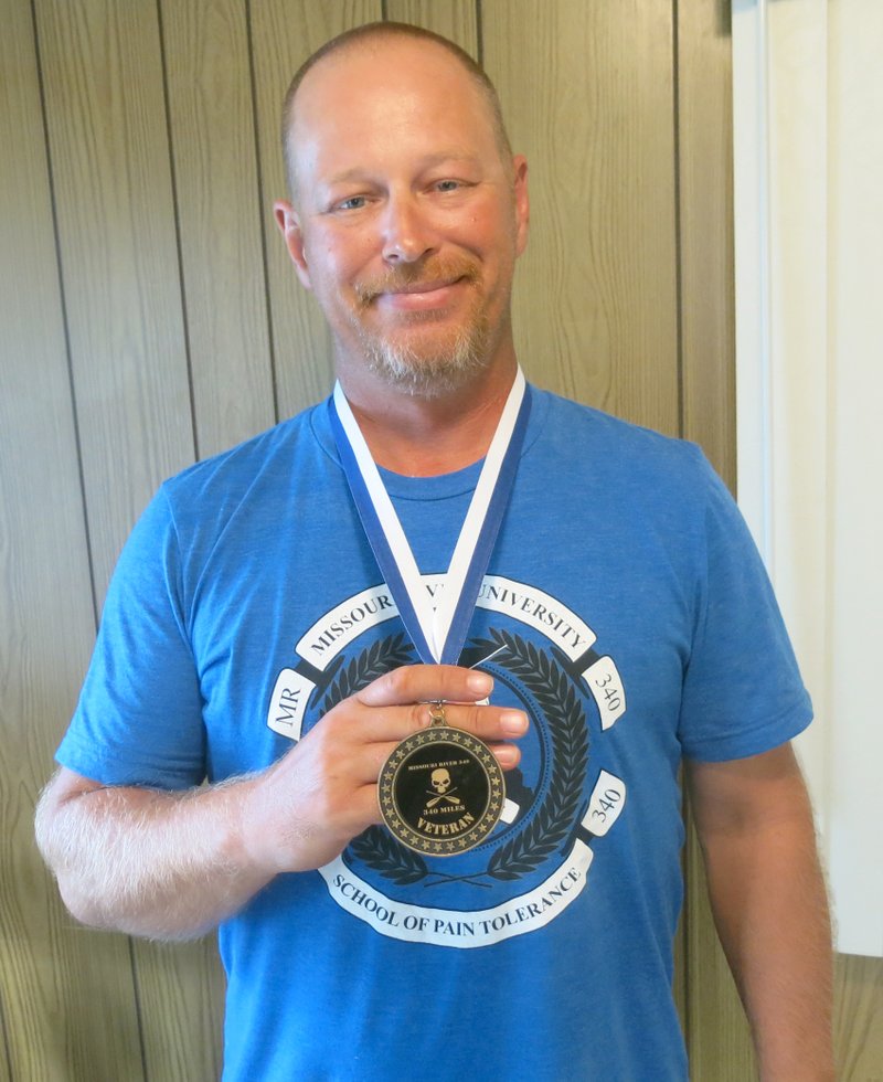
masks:
[[[455,857],[480,845],[497,826],[506,782],[488,745],[445,722],[433,706],[433,724],[403,740],[379,779],[380,810],[390,831],[408,849]]]

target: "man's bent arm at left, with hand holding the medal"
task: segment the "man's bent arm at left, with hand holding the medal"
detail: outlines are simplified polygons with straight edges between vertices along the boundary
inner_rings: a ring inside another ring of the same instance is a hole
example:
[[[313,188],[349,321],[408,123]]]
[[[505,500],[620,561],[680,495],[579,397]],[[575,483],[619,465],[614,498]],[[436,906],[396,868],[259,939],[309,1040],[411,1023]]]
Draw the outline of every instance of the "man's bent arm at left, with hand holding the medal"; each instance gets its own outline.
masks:
[[[319,868],[380,821],[377,775],[448,700],[448,723],[486,741],[524,734],[518,710],[476,706],[485,673],[407,666],[344,700],[268,770],[184,794],[103,786],[62,770],[36,816],[41,851],[86,924],[156,938],[200,935],[274,876]],[[503,768],[519,751],[498,744]]]

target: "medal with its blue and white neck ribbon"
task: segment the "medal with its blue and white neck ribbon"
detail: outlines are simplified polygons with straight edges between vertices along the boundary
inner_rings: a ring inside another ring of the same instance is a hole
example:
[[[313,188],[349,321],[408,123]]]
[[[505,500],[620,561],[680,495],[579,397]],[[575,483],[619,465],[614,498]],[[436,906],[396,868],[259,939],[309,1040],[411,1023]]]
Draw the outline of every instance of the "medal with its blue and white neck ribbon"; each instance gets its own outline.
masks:
[[[422,661],[456,665],[518,469],[530,415],[521,369],[503,406],[437,608],[421,580],[398,516],[338,383],[331,428],[365,534]],[[470,733],[448,725],[432,704],[433,724],[406,738],[381,771],[381,816],[418,852],[451,857],[479,845],[500,818],[506,784],[497,757]]]

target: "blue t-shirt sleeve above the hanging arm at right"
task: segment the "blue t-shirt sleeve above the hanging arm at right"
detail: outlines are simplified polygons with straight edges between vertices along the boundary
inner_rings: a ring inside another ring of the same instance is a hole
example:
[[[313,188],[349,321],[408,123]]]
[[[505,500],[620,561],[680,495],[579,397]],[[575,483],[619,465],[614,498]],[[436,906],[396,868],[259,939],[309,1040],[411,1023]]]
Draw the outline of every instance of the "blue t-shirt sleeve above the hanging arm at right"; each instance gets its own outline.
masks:
[[[708,762],[769,751],[812,719],[773,587],[742,515],[702,457],[705,567],[684,673],[683,753]]]

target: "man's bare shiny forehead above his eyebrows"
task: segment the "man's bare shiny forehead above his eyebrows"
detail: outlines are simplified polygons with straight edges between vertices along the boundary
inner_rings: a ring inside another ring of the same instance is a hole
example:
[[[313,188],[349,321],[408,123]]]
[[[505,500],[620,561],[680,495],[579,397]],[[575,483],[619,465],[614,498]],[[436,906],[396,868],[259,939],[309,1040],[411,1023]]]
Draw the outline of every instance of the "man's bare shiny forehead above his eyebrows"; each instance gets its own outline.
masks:
[[[291,116],[298,174],[377,152],[494,153],[493,116],[476,78],[442,45],[379,39],[343,46],[304,77]]]

